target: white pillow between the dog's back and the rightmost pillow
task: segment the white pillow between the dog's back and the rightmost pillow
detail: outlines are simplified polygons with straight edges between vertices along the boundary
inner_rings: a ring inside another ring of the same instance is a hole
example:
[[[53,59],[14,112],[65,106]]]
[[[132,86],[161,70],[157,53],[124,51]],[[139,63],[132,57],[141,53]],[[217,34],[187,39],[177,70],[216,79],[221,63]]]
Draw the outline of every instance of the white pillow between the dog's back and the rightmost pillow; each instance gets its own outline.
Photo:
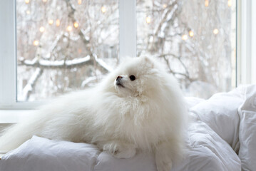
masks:
[[[239,123],[237,109],[242,104],[242,91],[245,88],[236,88],[229,93],[217,93],[193,108],[190,112],[197,115],[210,126],[220,137],[237,152],[239,149]]]

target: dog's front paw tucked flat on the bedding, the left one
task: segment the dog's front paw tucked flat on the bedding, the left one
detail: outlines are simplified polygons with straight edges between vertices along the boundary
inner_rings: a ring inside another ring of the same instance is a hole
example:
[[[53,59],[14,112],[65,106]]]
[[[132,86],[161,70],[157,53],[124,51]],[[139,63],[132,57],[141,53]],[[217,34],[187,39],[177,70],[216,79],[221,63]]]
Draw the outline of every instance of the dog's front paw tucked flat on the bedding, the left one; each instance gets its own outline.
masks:
[[[121,142],[109,142],[103,145],[103,150],[117,158],[130,158],[136,154],[134,145]]]

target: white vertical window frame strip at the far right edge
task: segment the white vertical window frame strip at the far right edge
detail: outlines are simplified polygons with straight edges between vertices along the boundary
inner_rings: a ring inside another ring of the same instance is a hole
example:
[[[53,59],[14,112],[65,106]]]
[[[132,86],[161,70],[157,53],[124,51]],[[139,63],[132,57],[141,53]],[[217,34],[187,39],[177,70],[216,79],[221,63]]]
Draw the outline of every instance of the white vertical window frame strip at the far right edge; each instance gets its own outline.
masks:
[[[237,0],[237,86],[256,83],[255,9],[255,0]]]

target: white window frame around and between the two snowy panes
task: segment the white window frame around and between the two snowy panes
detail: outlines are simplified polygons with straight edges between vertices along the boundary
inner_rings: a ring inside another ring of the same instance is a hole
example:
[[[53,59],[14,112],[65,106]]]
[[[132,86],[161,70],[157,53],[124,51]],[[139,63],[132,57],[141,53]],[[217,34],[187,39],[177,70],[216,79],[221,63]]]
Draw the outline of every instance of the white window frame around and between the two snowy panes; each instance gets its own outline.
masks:
[[[15,0],[0,1],[0,114],[42,104],[16,101],[15,6]],[[256,83],[256,49],[252,48],[256,47],[256,11],[252,9],[255,0],[237,0],[237,85]],[[119,0],[119,11],[119,55],[136,56],[136,0]]]

